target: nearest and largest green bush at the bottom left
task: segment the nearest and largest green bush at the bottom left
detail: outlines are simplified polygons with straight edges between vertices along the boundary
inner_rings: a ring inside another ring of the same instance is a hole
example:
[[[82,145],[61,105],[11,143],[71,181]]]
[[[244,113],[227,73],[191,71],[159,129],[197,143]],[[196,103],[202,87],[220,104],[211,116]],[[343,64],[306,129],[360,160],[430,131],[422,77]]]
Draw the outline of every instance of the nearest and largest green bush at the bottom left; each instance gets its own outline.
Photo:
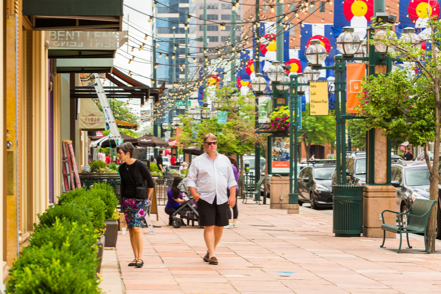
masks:
[[[56,220],[37,230],[13,264],[8,294],[99,294],[97,235],[86,225]]]

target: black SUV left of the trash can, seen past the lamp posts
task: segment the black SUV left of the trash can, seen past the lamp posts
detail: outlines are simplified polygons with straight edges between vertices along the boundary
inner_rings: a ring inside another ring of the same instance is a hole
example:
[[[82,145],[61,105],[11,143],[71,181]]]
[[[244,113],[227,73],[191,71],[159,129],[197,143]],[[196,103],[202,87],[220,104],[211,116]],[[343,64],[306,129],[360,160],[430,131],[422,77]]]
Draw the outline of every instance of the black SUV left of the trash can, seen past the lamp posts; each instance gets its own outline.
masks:
[[[332,206],[332,174],[336,160],[312,160],[298,175],[298,204],[311,203],[312,209]]]

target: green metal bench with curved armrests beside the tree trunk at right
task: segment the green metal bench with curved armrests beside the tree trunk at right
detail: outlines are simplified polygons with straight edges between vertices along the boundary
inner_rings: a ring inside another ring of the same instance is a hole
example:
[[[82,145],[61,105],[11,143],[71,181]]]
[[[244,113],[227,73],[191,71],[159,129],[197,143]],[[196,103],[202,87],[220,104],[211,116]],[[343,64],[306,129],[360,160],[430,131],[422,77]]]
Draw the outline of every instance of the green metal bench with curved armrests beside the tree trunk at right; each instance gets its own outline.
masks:
[[[386,231],[394,232],[396,234],[400,234],[400,246],[398,248],[397,253],[401,253],[401,242],[402,242],[402,234],[406,234],[407,236],[407,245],[409,248],[412,246],[409,243],[409,234],[424,234],[424,245],[426,247],[426,252],[429,254],[429,250],[427,249],[427,222],[429,220],[430,212],[432,211],[433,206],[435,205],[435,200],[429,199],[416,199],[414,204],[412,204],[411,208],[403,213],[398,213],[391,210],[385,210],[381,213],[381,218],[383,219],[383,224],[381,225],[381,229],[384,230],[383,244],[380,246],[384,247],[384,242],[386,240]],[[384,223],[383,214],[385,212],[392,212],[396,214],[396,218],[398,221],[398,225]],[[407,226],[403,227],[401,225],[401,216],[407,216]]]

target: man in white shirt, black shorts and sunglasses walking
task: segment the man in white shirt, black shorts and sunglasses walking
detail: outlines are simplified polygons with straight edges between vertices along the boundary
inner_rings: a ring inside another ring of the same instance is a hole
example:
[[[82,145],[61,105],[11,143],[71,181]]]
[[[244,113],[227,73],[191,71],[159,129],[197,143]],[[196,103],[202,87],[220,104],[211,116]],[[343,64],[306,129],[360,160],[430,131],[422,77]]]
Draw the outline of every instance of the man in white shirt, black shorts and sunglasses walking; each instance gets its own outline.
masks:
[[[204,226],[207,254],[204,261],[217,265],[216,246],[228,225],[228,207],[236,204],[236,180],[230,160],[219,154],[218,139],[212,133],[204,136],[205,153],[197,156],[190,165],[187,186],[197,201],[199,225]],[[230,197],[227,196],[230,189]]]

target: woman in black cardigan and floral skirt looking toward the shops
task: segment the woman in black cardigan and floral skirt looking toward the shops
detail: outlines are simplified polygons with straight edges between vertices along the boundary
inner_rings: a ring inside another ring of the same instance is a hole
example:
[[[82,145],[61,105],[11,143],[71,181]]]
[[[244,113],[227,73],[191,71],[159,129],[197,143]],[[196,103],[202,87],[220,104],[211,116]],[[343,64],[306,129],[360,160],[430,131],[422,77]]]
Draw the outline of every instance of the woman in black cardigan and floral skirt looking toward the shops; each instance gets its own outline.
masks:
[[[148,212],[148,205],[151,203],[150,196],[153,192],[154,182],[147,165],[132,158],[133,150],[133,145],[130,142],[117,147],[118,156],[123,161],[119,172],[124,216],[130,233],[130,244],[135,254],[135,259],[129,264],[129,267],[142,268],[144,265],[142,228]],[[136,199],[136,187],[146,187],[146,181],[148,198]]]

